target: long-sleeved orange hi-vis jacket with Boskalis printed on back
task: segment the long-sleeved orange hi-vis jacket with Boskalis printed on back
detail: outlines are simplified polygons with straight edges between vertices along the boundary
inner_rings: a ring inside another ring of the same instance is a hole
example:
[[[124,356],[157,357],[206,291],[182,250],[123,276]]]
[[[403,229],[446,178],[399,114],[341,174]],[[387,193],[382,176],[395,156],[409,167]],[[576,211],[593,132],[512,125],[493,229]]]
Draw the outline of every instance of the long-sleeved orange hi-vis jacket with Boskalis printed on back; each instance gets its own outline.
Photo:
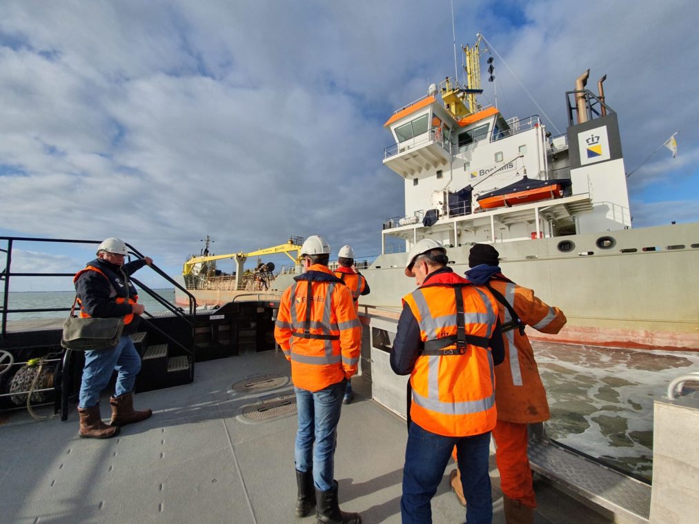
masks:
[[[295,277],[280,300],[274,337],[294,386],[319,391],[356,374],[361,325],[352,293],[321,264]]]

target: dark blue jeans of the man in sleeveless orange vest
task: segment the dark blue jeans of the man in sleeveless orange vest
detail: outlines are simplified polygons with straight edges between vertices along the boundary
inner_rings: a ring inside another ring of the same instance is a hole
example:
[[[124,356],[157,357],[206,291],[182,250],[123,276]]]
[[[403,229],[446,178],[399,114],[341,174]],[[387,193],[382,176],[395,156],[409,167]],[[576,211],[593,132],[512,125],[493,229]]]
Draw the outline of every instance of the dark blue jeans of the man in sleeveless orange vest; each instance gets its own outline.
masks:
[[[430,502],[449,457],[456,446],[459,472],[466,496],[466,522],[490,524],[493,520],[493,501],[490,493],[488,458],[490,432],[471,437],[443,437],[424,430],[415,422],[408,430],[403,467],[403,496],[401,517],[403,524],[430,524]]]

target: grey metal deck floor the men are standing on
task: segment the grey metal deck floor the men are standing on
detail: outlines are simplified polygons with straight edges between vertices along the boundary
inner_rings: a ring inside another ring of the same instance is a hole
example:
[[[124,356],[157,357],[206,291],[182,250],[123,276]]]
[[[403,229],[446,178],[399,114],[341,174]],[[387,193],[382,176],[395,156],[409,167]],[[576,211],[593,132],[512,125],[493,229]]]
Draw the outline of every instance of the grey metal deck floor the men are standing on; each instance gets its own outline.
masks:
[[[273,387],[238,391],[239,381],[259,374],[276,376]],[[399,523],[405,421],[370,400],[370,388],[357,377],[356,398],[343,406],[336,452],[340,506],[359,511],[367,524]],[[315,516],[294,517],[296,411],[293,402],[283,402],[290,395],[287,361],[264,351],[199,363],[193,384],[140,393],[136,407],[152,408],[152,418],[113,439],[78,438],[74,406],[67,422],[14,412],[0,425],[0,521],[315,522]],[[265,416],[249,408],[264,400],[278,405],[268,410],[269,419],[245,415]],[[106,417],[106,397],[101,405]],[[449,489],[451,470],[432,502],[435,523],[464,520]],[[491,478],[493,523],[504,523],[493,457]],[[536,490],[538,524],[612,522],[541,479]]]

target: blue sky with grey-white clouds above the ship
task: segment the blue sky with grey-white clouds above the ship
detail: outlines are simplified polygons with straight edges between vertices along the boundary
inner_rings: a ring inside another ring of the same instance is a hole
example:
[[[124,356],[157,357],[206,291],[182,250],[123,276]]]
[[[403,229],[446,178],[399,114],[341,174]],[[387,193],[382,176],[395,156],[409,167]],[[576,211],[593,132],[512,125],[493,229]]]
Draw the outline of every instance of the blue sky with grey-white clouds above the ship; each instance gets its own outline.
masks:
[[[453,9],[454,30],[449,0],[4,0],[0,236],[119,237],[172,275],[206,235],[217,254],[311,234],[358,259],[380,254],[382,221],[403,215],[403,182],[382,166],[393,141],[383,124],[454,75],[454,33],[461,46],[479,32],[497,52],[498,108],[538,114],[554,135],[575,78],[589,68],[596,92],[606,74],[635,169],[633,226],[699,220],[699,3]],[[678,130],[677,158],[653,154]],[[14,247],[13,272],[75,272],[94,255]],[[11,281],[30,289],[71,282]]]

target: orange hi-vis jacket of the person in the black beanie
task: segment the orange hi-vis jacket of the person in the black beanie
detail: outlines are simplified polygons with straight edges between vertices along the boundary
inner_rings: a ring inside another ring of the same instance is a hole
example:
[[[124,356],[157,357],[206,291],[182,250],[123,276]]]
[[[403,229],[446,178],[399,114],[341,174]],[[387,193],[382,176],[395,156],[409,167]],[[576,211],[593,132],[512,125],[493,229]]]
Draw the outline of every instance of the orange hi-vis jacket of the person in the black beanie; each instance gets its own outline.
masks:
[[[518,286],[503,275],[492,277],[488,285],[507,300],[523,325],[552,334],[565,326],[563,312],[558,307],[543,303],[531,289]],[[549,419],[549,404],[534,360],[534,351],[524,334],[524,328],[506,330],[505,326],[511,320],[512,314],[501,305],[505,360],[495,369],[498,420],[521,424],[542,422]]]

